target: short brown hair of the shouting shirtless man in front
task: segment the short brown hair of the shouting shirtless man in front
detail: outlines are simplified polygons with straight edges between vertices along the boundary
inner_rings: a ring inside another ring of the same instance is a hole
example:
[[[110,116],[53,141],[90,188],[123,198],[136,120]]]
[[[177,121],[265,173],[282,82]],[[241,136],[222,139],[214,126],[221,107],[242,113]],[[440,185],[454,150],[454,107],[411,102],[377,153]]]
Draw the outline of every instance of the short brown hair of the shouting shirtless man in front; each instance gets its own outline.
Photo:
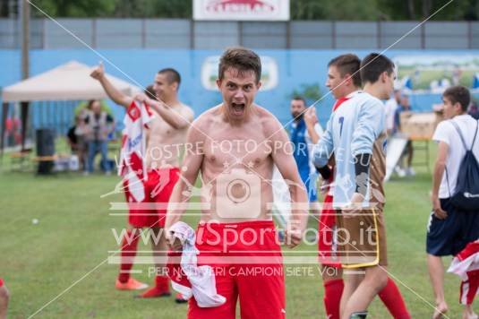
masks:
[[[229,47],[219,58],[218,79],[221,81],[225,71],[233,67],[239,73],[252,71],[256,75],[256,83],[261,79],[261,59],[252,50],[244,47]]]

